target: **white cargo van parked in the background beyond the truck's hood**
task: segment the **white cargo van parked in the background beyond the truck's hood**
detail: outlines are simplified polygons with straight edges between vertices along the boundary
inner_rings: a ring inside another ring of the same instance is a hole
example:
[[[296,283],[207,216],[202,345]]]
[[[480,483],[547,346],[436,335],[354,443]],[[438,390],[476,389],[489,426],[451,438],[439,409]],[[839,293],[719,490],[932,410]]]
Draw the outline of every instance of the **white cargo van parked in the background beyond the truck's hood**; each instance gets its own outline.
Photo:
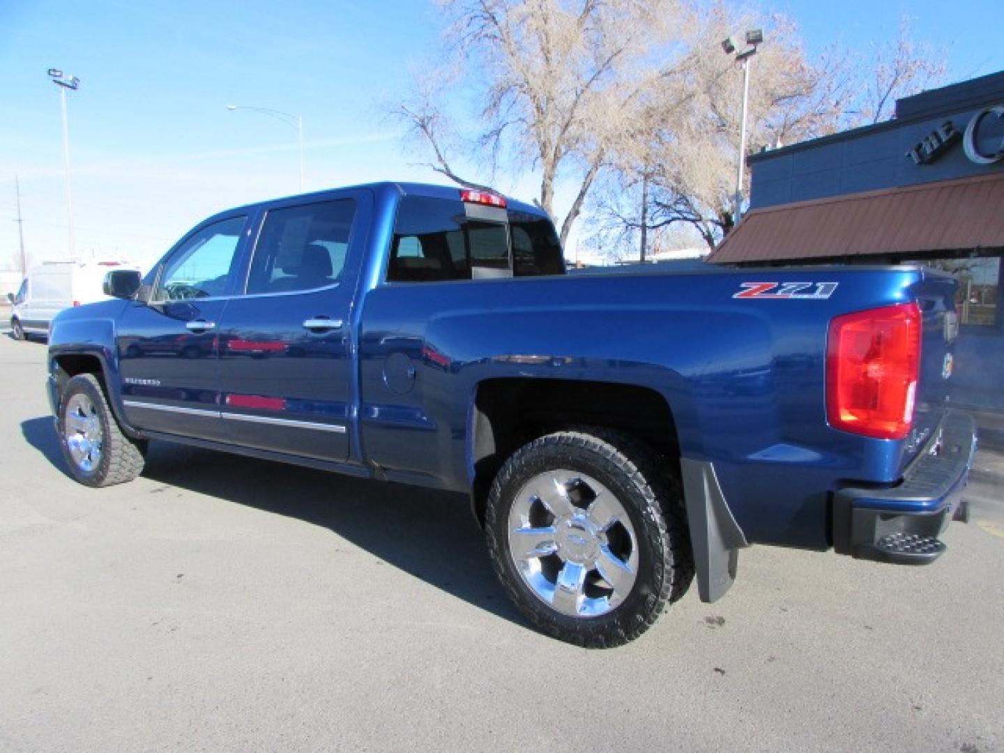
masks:
[[[52,318],[70,306],[104,300],[101,285],[112,269],[139,269],[127,261],[47,261],[32,267],[11,302],[10,327],[16,339],[49,333]]]

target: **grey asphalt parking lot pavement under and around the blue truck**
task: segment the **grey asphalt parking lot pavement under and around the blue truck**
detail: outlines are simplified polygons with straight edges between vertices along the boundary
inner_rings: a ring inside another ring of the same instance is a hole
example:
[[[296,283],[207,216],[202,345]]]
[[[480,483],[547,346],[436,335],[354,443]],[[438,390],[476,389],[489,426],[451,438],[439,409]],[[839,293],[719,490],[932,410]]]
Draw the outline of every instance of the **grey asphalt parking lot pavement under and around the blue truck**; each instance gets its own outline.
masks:
[[[165,444],[86,489],[44,345],[0,364],[0,750],[1004,746],[1000,456],[930,567],[754,547],[585,651],[509,605],[463,500]]]

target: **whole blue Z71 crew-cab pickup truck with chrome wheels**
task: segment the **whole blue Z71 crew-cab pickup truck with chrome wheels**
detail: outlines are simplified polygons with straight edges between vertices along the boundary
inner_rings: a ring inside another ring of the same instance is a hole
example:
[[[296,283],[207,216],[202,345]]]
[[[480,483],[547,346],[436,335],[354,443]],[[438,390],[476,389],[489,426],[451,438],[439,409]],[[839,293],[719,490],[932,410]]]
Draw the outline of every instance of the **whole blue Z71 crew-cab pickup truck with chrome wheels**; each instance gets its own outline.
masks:
[[[544,213],[483,190],[218,214],[55,319],[69,472],[130,481],[164,440],[463,492],[517,606],[587,647],[695,574],[721,597],[754,543],[945,550],[975,451],[951,277],[565,271]]]

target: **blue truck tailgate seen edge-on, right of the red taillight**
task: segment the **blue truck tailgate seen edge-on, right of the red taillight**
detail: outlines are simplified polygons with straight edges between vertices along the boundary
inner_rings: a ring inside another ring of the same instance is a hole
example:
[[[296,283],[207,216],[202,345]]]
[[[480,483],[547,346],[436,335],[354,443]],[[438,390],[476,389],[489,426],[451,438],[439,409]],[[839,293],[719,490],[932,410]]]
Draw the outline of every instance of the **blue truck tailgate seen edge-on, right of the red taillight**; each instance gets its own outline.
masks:
[[[917,387],[914,428],[907,437],[904,465],[917,457],[948,410],[955,375],[955,340],[959,316],[955,295],[959,284],[948,274],[924,270],[914,293],[924,316],[921,373]]]

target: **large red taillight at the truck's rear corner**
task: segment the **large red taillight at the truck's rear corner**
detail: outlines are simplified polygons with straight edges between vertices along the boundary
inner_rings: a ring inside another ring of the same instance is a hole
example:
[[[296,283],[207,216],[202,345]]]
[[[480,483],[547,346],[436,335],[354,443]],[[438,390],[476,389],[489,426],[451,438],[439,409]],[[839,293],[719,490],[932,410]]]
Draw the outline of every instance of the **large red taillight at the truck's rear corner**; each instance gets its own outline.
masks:
[[[826,419],[835,429],[903,439],[914,422],[921,364],[917,303],[837,316],[826,347]]]

